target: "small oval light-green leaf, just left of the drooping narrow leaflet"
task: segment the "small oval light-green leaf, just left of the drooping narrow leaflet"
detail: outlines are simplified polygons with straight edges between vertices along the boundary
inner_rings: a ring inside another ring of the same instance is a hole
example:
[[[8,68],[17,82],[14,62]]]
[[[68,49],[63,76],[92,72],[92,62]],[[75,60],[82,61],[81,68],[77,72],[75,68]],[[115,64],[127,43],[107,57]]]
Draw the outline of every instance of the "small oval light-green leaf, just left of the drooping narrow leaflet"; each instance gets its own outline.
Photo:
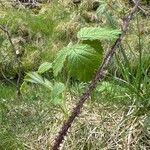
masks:
[[[50,70],[52,68],[52,63],[49,62],[44,62],[43,64],[40,65],[38,69],[38,73],[42,74],[45,73],[46,71]]]

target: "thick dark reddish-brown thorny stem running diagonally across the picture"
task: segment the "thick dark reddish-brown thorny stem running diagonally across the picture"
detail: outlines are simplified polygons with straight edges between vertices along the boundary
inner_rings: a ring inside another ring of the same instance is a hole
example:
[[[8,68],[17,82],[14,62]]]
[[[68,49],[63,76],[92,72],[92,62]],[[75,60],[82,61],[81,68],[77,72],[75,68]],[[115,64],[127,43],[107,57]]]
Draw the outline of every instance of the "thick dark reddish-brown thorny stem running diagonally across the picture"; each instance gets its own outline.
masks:
[[[139,0],[136,2],[136,5],[133,7],[131,12],[124,17],[121,34],[119,35],[118,39],[115,41],[113,46],[110,48],[110,50],[106,53],[102,64],[99,66],[95,76],[89,82],[85,91],[82,93],[80,100],[76,104],[75,108],[73,109],[70,117],[68,118],[68,120],[66,120],[64,122],[60,132],[58,133],[57,137],[55,138],[55,141],[54,141],[54,144],[53,144],[51,150],[58,150],[59,149],[60,144],[63,142],[64,137],[67,135],[68,129],[71,127],[74,119],[80,114],[80,111],[81,111],[81,108],[83,107],[84,102],[89,98],[91,92],[94,90],[94,88],[96,86],[96,83],[103,77],[103,72],[104,72],[106,66],[111,61],[114,53],[116,52],[116,49],[121,44],[121,41],[123,40],[123,37],[125,36],[125,34],[128,30],[129,22],[132,19],[136,10],[138,9],[138,4],[139,4]]]

